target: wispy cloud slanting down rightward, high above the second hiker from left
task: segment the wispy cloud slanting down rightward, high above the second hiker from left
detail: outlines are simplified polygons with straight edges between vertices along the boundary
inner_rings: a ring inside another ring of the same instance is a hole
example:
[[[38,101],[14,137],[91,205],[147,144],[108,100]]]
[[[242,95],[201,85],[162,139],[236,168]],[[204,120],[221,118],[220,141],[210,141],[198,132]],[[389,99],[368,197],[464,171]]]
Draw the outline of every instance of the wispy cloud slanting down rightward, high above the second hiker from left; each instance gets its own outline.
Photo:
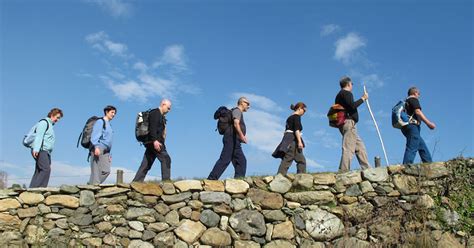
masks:
[[[87,35],[86,41],[91,44],[93,48],[104,53],[109,53],[112,56],[130,56],[127,54],[128,48],[125,44],[110,40],[109,35],[104,31]]]

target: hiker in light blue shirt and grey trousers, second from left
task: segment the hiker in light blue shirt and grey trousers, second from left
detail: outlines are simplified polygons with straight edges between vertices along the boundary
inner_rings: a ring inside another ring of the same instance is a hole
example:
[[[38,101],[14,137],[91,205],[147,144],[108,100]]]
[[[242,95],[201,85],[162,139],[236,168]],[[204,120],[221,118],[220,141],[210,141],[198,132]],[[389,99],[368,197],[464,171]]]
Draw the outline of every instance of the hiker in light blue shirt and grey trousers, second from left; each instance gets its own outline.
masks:
[[[91,177],[89,184],[101,184],[110,174],[110,164],[112,157],[113,130],[110,121],[117,114],[114,106],[108,105],[104,108],[104,117],[99,118],[92,127],[90,160]]]

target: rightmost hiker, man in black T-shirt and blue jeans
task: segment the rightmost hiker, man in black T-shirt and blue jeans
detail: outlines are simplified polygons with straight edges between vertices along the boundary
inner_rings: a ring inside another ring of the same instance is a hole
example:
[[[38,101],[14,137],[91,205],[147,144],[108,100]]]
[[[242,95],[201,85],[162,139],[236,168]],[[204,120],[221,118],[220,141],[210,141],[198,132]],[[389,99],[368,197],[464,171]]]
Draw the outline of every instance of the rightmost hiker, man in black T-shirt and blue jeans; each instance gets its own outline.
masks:
[[[432,162],[430,151],[420,135],[421,121],[423,121],[431,130],[435,129],[436,125],[433,122],[430,122],[421,111],[419,98],[420,91],[418,88],[411,87],[408,89],[408,98],[406,99],[405,108],[407,114],[412,116],[416,122],[410,122],[401,129],[403,135],[407,138],[405,154],[403,155],[403,164],[413,164],[417,151],[420,154],[421,161]]]

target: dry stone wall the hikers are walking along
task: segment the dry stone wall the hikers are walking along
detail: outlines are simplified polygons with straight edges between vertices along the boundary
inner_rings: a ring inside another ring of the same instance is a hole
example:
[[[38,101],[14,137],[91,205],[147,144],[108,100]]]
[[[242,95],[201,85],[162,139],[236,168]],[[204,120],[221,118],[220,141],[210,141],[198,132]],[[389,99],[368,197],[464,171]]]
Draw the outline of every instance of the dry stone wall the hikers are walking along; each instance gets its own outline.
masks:
[[[439,247],[464,247],[473,244],[471,234],[444,228],[434,211],[439,181],[450,173],[432,163],[3,190],[0,246],[385,247],[425,233]]]

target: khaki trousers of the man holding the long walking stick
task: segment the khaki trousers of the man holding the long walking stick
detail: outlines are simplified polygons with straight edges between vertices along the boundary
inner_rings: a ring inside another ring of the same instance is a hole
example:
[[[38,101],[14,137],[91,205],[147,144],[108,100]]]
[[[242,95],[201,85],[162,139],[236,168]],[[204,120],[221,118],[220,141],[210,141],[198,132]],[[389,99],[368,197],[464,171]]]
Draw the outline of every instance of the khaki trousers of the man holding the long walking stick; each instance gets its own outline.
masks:
[[[339,163],[339,172],[346,172],[351,169],[351,160],[354,157],[354,153],[357,156],[360,167],[363,170],[369,168],[367,151],[364,142],[357,135],[354,120],[346,120],[344,125],[339,128],[339,131],[342,134],[342,156]]]

